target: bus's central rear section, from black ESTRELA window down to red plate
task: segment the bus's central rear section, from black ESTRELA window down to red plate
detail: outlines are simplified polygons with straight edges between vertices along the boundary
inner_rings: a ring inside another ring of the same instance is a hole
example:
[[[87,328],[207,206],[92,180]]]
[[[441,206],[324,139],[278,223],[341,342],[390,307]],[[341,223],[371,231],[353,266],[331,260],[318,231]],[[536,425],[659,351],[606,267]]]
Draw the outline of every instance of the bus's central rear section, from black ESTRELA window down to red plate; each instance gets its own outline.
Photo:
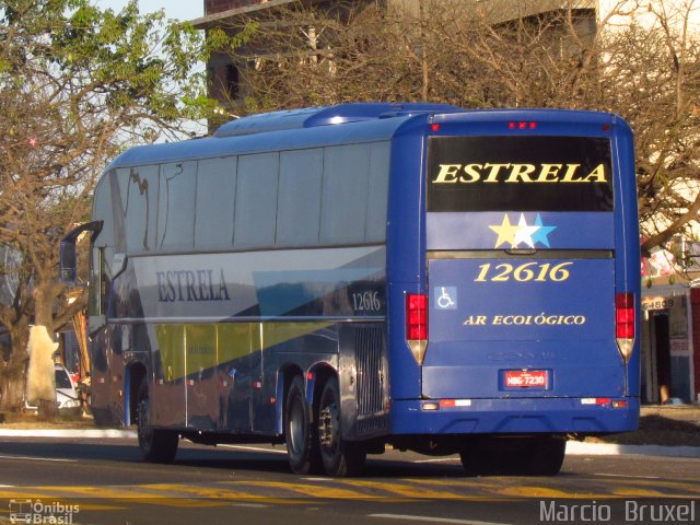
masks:
[[[625,396],[610,139],[432,137],[427,398]]]

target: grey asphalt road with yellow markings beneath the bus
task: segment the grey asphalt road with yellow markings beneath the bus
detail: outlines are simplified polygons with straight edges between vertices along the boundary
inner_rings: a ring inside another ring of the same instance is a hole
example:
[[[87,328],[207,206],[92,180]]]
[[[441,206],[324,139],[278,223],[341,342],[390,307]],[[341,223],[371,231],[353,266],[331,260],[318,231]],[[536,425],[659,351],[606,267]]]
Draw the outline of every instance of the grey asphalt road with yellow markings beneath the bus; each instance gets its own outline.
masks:
[[[658,518],[658,520],[657,520]],[[568,456],[551,478],[480,477],[457,457],[388,452],[359,478],[299,477],[283,447],[0,439],[0,524],[699,523],[700,459]]]

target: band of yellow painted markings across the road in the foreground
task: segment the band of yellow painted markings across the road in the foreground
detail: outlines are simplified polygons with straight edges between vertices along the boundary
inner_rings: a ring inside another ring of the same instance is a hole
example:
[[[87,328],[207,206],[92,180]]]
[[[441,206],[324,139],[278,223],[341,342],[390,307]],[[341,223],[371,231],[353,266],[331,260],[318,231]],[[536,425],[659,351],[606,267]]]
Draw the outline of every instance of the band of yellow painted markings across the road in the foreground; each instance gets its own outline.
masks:
[[[479,478],[479,479],[423,479],[402,478],[397,481],[375,481],[371,479],[319,478],[308,482],[288,481],[221,481],[206,486],[185,483],[150,483],[139,486],[38,486],[0,489],[0,499],[54,499],[66,501],[78,498],[108,500],[98,505],[81,503],[91,510],[117,510],[110,506],[124,503],[144,503],[167,506],[220,506],[231,502],[248,501],[265,504],[307,504],[312,498],[318,502],[339,500],[382,500],[385,502],[410,499],[452,499],[489,501],[493,499],[572,499],[615,500],[622,498],[678,498],[687,499],[700,493],[700,487],[691,487],[691,481],[664,481],[607,479],[582,477],[558,480],[532,478]],[[570,483],[574,483],[571,487]],[[268,489],[259,490],[259,489]],[[259,492],[262,492],[260,494]],[[265,493],[267,492],[267,494]],[[296,495],[290,495],[296,494]],[[301,497],[304,497],[302,500]]]

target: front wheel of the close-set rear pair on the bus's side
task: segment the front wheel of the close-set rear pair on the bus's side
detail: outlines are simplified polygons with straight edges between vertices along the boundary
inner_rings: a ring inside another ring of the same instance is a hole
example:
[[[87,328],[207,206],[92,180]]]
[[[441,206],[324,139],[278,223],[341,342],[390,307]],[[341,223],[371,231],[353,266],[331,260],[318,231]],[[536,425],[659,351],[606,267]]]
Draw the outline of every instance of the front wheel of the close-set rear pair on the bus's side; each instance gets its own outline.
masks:
[[[312,431],[311,408],[304,395],[304,381],[298,375],[287,390],[284,440],[289,465],[294,474],[318,471],[318,442]]]

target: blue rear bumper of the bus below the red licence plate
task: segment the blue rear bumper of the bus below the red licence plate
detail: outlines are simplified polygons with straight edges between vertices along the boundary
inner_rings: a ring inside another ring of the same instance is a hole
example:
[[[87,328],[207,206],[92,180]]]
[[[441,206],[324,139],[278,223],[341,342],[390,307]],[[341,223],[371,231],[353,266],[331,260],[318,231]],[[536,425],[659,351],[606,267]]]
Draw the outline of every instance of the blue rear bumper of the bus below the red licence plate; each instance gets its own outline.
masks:
[[[627,401],[612,408],[612,401]],[[425,402],[438,410],[425,410]],[[582,398],[431,399],[392,401],[392,434],[578,433],[605,434],[637,430],[639,398],[612,398],[595,405]]]

